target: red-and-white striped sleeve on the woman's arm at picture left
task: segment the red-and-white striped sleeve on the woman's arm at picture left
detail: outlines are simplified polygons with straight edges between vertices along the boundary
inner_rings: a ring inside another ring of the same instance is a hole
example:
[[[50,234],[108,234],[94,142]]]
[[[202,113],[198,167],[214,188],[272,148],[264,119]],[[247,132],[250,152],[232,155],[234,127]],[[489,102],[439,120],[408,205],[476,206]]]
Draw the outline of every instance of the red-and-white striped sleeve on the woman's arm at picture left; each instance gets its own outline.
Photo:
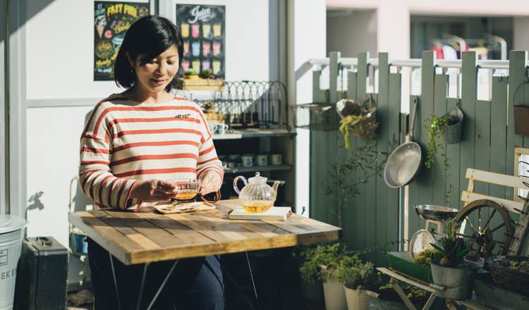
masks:
[[[130,190],[137,180],[117,178],[111,173],[107,112],[104,104],[97,104],[85,124],[80,139],[80,185],[97,205],[126,209],[130,204]]]

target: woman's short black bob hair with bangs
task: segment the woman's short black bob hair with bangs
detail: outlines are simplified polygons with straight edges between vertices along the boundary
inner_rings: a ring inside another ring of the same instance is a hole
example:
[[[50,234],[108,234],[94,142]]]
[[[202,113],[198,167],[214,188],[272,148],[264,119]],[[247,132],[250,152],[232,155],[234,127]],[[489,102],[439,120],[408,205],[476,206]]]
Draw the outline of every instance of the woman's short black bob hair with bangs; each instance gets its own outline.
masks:
[[[128,28],[123,44],[119,48],[118,56],[116,56],[116,63],[114,63],[114,81],[116,81],[116,85],[130,88],[136,83],[136,73],[130,66],[127,53],[132,61],[136,61],[139,56],[140,63],[143,66],[173,45],[176,45],[178,50],[178,70],[180,70],[183,42],[180,31],[178,31],[174,23],[162,16],[152,15],[136,20]],[[169,82],[165,89],[169,92],[175,86],[176,78]]]

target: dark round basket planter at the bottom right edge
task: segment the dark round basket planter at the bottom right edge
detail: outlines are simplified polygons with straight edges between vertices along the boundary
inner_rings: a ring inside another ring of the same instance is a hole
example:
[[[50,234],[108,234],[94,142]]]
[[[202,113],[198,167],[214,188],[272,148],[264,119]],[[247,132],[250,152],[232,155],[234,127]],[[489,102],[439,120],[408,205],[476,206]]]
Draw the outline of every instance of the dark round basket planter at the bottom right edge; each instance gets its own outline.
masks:
[[[488,260],[486,268],[498,286],[529,296],[529,273],[509,268],[510,261],[529,261],[529,257],[507,256],[501,261]]]

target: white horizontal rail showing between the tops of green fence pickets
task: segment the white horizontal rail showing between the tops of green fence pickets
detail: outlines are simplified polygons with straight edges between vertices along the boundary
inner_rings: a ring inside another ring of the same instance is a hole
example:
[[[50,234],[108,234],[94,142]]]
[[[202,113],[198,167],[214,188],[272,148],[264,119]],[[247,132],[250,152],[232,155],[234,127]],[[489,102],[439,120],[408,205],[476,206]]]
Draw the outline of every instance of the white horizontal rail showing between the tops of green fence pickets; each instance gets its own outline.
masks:
[[[310,58],[308,63],[312,65],[329,66],[329,58]],[[340,58],[339,63],[341,63],[342,66],[355,67],[358,66],[358,58]],[[378,67],[378,58],[369,58],[367,60],[367,65]],[[478,60],[476,65],[481,69],[509,69],[509,61]],[[395,59],[389,63],[389,66],[420,68],[422,66],[422,59]],[[435,66],[439,68],[461,68],[462,63],[461,60],[449,61],[439,59],[435,60]]]

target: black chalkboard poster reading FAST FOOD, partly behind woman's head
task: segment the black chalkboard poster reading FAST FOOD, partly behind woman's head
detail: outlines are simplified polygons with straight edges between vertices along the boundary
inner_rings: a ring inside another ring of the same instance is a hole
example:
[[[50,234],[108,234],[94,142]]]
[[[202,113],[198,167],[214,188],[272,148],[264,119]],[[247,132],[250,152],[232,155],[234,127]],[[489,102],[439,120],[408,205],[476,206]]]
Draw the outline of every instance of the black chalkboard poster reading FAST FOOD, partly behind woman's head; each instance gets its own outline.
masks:
[[[114,61],[132,23],[149,15],[150,4],[94,2],[94,80],[114,80]]]

